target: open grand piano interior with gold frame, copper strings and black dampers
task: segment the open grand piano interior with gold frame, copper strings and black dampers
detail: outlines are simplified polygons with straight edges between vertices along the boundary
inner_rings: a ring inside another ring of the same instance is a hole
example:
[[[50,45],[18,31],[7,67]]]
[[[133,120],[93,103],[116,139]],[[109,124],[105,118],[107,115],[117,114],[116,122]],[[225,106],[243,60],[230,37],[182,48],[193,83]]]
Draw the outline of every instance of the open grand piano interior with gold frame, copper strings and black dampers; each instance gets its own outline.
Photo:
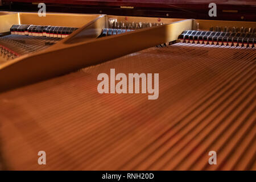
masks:
[[[254,2],[31,2],[0,6],[1,169],[256,169]],[[159,98],[98,93],[111,68]]]

